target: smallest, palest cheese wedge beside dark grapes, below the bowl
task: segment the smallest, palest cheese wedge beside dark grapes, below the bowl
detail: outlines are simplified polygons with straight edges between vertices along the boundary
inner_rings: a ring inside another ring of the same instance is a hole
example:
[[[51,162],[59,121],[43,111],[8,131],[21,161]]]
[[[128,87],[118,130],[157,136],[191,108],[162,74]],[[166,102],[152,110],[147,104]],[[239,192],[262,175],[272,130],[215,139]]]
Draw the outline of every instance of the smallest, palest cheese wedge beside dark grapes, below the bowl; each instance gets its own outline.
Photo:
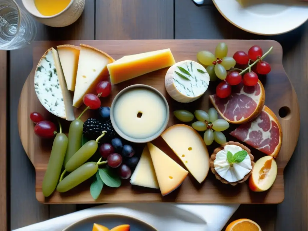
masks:
[[[130,183],[148,188],[159,188],[148,146],[143,149]]]

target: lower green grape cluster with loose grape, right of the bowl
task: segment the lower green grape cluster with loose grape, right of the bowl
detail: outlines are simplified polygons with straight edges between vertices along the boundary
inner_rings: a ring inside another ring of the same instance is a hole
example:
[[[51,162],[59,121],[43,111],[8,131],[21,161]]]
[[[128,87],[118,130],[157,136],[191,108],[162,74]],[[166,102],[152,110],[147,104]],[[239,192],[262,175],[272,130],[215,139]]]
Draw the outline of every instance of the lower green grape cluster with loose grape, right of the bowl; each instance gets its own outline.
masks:
[[[193,113],[187,110],[177,110],[173,114],[182,122],[191,122],[196,117],[197,121],[193,122],[192,127],[198,132],[204,132],[203,140],[206,145],[211,145],[215,140],[218,144],[225,144],[227,139],[222,131],[229,128],[226,120],[218,119],[217,111],[214,107],[210,108],[208,113],[202,110],[196,110]]]

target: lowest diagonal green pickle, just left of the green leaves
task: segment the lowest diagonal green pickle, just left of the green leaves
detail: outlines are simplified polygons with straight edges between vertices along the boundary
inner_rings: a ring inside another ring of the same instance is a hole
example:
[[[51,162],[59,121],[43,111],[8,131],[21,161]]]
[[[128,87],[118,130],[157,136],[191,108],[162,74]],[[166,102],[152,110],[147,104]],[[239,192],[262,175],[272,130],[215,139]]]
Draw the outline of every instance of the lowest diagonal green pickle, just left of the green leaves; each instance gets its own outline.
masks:
[[[98,170],[98,165],[95,162],[87,162],[77,168],[75,171],[68,174],[57,186],[57,191],[60,193],[67,192],[72,188],[89,179]]]

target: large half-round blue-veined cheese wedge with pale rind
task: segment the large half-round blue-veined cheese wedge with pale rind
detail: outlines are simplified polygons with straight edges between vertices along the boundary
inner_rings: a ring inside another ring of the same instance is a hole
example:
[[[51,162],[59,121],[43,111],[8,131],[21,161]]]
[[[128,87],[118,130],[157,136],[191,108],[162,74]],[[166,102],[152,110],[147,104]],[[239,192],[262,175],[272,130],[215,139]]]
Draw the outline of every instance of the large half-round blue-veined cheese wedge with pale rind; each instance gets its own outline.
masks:
[[[58,52],[48,49],[36,67],[34,89],[39,101],[50,113],[74,120],[73,101],[64,79]]]

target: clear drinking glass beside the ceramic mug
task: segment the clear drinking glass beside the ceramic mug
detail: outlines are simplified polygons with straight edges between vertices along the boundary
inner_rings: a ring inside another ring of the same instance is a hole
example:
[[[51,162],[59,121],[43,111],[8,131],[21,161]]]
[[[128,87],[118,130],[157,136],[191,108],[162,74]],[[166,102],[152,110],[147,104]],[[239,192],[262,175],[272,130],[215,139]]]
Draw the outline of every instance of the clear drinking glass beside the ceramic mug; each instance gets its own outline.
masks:
[[[0,50],[25,47],[35,38],[34,19],[14,0],[0,0]]]

